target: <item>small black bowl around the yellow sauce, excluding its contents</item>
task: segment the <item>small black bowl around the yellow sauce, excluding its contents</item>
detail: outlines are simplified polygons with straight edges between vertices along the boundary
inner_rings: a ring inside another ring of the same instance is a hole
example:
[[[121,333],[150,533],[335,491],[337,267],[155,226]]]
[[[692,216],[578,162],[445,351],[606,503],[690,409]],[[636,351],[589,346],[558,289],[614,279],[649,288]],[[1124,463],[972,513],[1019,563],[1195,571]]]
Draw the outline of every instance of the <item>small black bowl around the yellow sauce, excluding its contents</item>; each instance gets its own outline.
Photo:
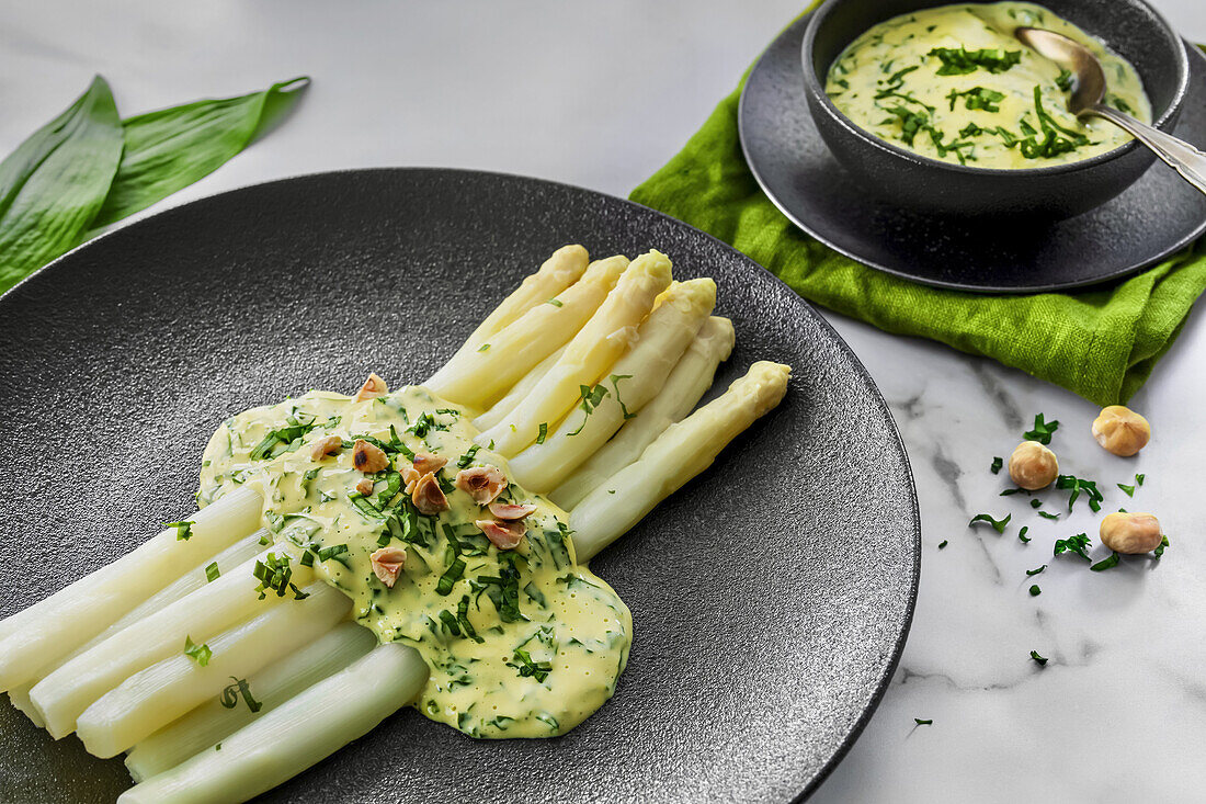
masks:
[[[837,161],[876,197],[926,214],[961,217],[1071,217],[1134,183],[1154,156],[1136,141],[1081,162],[1047,168],[972,168],[931,159],[859,128],[825,94],[830,65],[865,30],[885,19],[952,0],[827,0],[804,31],[808,107]],[[1050,11],[1105,41],[1138,71],[1153,123],[1170,130],[1189,82],[1184,45],[1143,0],[1047,0]]]

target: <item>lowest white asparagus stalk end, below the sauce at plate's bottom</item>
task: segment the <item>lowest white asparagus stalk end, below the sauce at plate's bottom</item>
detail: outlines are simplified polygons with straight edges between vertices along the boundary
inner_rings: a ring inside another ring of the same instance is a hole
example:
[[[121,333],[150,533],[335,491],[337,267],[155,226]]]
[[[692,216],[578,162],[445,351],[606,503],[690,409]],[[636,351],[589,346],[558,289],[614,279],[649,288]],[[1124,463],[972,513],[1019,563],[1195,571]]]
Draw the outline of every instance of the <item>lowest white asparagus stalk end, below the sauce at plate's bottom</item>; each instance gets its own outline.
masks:
[[[118,804],[245,802],[368,734],[427,681],[418,652],[393,642],[281,704]]]

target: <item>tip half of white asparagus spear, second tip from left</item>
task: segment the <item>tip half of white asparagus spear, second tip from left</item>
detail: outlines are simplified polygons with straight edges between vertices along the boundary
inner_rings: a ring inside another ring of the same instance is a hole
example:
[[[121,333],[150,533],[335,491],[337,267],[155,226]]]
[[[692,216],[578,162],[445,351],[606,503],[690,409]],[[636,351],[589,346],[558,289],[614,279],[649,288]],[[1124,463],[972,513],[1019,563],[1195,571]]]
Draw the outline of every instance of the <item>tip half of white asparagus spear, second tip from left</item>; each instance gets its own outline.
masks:
[[[627,267],[622,256],[592,262],[557,304],[537,304],[423,385],[449,402],[485,410],[581,330]]]

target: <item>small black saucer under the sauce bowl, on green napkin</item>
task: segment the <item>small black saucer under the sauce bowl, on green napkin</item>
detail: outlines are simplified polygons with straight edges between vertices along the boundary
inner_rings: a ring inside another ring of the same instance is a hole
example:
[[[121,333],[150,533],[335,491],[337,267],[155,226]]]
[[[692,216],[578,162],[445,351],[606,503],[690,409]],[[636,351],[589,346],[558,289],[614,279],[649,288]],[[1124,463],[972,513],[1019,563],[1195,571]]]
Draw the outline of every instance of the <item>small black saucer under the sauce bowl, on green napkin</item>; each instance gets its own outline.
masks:
[[[738,112],[762,190],[796,226],[890,274],[973,292],[1034,293],[1135,273],[1206,231],[1206,196],[1158,162],[1102,206],[1050,225],[953,223],[873,200],[838,165],[804,99],[800,45],[808,16],[759,59]],[[1206,57],[1189,46],[1190,88],[1173,132],[1206,144]]]

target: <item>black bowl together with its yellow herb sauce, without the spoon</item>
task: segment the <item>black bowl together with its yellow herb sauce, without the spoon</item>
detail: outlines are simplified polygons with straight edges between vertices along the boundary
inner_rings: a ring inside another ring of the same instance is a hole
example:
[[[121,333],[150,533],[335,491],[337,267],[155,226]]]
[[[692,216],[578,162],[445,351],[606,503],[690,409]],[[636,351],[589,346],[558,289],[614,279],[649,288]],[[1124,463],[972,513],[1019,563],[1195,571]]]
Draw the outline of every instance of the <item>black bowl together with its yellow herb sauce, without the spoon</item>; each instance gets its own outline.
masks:
[[[809,110],[868,194],[924,214],[1059,220],[1135,182],[1149,151],[1069,109],[1076,77],[1017,39],[1069,36],[1101,62],[1105,103],[1171,129],[1188,85],[1182,40],[1143,0],[1046,5],[829,0],[803,40]]]

